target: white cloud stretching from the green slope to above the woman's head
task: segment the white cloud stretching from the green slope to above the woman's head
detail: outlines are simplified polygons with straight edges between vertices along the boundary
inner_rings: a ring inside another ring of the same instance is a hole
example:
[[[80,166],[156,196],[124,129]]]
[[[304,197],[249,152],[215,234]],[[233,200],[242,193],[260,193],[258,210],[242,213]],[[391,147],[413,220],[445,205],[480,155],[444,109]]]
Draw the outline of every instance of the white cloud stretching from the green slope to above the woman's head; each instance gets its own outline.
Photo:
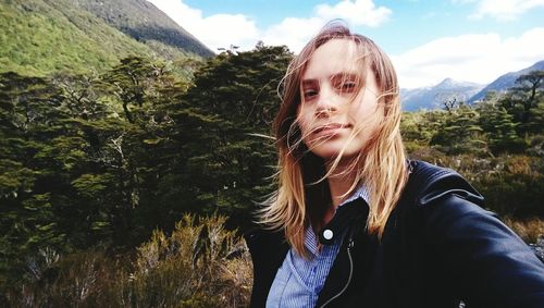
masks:
[[[392,11],[376,7],[373,0],[342,0],[334,5],[318,4],[307,19],[286,17],[281,23],[259,29],[256,22],[243,14],[203,16],[202,11],[183,0],[148,0],[212,50],[231,45],[242,50],[262,40],[268,45],[287,45],[298,52],[329,21],[343,19],[353,26],[375,27],[386,22]]]

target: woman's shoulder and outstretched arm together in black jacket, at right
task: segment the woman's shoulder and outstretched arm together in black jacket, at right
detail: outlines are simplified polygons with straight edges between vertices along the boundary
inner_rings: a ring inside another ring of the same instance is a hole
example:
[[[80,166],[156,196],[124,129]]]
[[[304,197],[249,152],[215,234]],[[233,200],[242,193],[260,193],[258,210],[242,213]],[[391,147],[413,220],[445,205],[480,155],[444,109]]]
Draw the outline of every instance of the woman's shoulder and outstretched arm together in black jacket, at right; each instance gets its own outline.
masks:
[[[482,208],[483,197],[457,172],[421,161],[410,165],[407,193],[415,206],[406,207],[404,219],[418,231],[412,244],[423,245],[425,260],[447,269],[469,306],[542,307],[544,266],[529,246]]]

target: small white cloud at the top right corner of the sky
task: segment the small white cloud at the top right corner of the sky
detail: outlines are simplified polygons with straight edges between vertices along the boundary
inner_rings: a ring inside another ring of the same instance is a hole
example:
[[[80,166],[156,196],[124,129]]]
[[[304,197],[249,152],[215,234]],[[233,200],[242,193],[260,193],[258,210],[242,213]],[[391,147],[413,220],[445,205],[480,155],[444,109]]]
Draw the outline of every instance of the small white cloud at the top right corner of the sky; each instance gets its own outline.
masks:
[[[471,19],[491,16],[498,21],[514,21],[529,10],[544,7],[544,0],[453,0],[454,3],[477,2]]]

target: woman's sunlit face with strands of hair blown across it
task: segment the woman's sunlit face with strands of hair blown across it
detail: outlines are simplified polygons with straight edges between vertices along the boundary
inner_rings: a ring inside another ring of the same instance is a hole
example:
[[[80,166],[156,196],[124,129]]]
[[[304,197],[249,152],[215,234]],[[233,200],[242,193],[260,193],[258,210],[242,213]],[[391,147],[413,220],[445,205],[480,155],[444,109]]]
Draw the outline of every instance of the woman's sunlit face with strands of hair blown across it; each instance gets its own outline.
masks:
[[[332,39],[314,51],[302,73],[298,125],[310,151],[325,160],[341,151],[343,159],[357,156],[383,118],[375,76],[360,61],[354,41]]]

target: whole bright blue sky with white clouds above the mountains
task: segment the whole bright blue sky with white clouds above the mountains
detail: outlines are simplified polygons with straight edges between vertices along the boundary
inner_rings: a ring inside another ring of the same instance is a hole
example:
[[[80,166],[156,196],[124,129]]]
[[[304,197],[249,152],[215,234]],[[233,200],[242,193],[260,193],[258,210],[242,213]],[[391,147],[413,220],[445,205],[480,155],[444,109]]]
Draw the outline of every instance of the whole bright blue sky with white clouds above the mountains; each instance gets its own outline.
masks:
[[[544,0],[148,0],[211,50],[258,41],[297,53],[344,20],[392,58],[400,87],[482,85],[544,60]]]

